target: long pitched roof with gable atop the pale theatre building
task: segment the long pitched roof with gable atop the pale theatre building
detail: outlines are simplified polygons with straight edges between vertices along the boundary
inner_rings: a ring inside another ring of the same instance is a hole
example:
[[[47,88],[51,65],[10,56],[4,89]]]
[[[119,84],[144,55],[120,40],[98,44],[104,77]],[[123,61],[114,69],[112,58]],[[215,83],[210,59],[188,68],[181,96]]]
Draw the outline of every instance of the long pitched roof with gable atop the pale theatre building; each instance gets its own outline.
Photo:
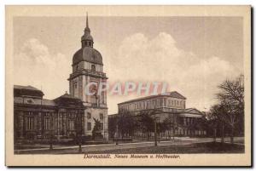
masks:
[[[124,101],[122,103],[119,103],[118,105],[130,103],[130,102],[134,102],[134,101],[139,101],[139,100],[148,100],[148,99],[152,99],[152,98],[156,98],[156,97],[172,97],[172,98],[186,100],[186,98],[182,94],[177,93],[177,91],[172,91],[172,92],[166,92],[165,94],[149,95],[146,97],[137,98],[135,100]]]

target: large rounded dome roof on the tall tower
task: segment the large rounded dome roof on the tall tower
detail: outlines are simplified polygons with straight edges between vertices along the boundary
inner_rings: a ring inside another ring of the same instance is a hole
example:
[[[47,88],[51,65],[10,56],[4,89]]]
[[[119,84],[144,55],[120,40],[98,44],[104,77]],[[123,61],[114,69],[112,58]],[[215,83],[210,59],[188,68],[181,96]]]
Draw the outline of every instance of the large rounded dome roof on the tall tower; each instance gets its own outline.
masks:
[[[73,65],[76,65],[81,61],[103,65],[102,54],[99,51],[97,51],[95,48],[88,47],[88,46],[85,46],[84,48],[80,48],[73,55]]]

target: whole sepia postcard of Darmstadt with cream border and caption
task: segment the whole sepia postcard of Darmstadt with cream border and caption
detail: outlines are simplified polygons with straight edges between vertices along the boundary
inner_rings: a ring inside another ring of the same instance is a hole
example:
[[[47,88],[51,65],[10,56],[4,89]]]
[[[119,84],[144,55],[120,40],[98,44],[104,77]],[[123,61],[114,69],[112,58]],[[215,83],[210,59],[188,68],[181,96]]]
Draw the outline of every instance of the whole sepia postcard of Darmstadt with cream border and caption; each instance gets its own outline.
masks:
[[[250,6],[6,6],[7,166],[251,166]]]

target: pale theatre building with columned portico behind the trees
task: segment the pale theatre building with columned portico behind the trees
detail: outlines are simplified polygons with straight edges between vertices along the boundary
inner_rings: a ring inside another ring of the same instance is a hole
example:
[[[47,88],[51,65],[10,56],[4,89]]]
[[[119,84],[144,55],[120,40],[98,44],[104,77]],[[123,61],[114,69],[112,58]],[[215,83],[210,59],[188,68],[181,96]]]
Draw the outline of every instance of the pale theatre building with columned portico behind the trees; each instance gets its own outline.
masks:
[[[195,108],[186,108],[186,98],[176,91],[152,95],[118,104],[119,114],[109,116],[109,120],[130,113],[139,120],[142,114],[155,118],[157,123],[168,123],[171,128],[162,134],[177,136],[204,136],[203,113]],[[152,112],[154,111],[154,112]],[[155,116],[154,116],[155,114]],[[110,122],[110,121],[109,121]],[[141,131],[135,133],[142,134]]]

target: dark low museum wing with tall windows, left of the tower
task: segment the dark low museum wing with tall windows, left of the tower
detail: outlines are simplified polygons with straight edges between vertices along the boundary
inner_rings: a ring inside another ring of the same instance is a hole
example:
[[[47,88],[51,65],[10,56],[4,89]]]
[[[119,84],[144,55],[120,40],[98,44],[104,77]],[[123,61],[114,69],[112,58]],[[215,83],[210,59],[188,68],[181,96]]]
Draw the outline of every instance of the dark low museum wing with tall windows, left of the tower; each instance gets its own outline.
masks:
[[[63,94],[55,100],[32,86],[14,87],[15,140],[49,140],[84,136],[82,100]]]

